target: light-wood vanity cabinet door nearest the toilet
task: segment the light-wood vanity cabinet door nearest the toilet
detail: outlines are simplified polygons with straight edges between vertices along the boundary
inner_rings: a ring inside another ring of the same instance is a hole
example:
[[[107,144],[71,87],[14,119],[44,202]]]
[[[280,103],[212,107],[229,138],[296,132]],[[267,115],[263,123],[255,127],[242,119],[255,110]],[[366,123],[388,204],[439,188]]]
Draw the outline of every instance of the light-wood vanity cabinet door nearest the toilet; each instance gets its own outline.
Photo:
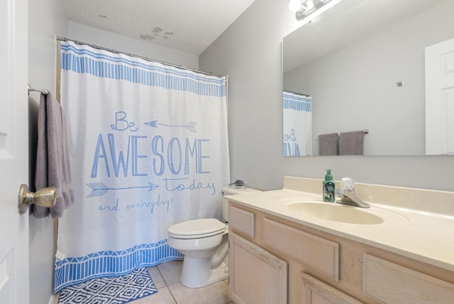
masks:
[[[287,262],[228,232],[229,296],[236,304],[287,304]]]

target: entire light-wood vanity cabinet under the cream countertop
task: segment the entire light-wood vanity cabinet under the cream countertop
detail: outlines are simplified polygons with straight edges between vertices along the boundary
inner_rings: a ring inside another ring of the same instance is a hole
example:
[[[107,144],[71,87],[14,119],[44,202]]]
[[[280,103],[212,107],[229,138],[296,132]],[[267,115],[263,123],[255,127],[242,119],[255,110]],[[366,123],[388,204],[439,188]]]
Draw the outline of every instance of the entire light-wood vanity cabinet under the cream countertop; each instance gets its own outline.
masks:
[[[237,304],[454,303],[453,271],[230,206],[230,296]]]

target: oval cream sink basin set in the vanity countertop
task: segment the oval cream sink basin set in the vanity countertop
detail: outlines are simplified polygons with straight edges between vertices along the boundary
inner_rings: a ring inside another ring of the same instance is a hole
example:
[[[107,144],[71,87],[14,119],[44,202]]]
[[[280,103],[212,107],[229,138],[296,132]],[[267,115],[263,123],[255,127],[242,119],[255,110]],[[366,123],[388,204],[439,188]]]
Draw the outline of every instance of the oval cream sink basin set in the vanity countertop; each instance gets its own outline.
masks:
[[[361,208],[334,202],[309,200],[284,200],[282,205],[297,217],[314,217],[331,222],[348,224],[382,224],[385,221],[402,222],[408,220],[396,212],[380,207]]]

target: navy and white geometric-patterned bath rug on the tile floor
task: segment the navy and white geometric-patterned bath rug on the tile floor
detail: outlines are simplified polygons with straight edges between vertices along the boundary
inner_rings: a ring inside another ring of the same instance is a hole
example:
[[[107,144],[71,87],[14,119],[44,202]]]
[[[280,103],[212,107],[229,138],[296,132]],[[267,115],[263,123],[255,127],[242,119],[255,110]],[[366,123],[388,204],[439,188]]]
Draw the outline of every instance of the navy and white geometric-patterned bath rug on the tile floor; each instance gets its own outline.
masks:
[[[59,304],[123,304],[157,293],[147,268],[124,276],[94,278],[60,291]]]

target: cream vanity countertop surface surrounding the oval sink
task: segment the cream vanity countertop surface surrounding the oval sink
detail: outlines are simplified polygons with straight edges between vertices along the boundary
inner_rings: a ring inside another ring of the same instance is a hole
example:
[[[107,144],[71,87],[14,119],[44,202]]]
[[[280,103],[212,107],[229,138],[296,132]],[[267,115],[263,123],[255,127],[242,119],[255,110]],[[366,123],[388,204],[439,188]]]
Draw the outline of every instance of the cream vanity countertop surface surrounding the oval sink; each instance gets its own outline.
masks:
[[[228,195],[228,200],[246,207],[282,217],[345,239],[454,271],[454,217],[426,210],[368,202],[370,208],[358,208],[384,219],[380,224],[350,224],[298,215],[287,209],[289,202],[321,200],[321,194],[298,190],[271,190]],[[333,203],[331,203],[333,204]]]

